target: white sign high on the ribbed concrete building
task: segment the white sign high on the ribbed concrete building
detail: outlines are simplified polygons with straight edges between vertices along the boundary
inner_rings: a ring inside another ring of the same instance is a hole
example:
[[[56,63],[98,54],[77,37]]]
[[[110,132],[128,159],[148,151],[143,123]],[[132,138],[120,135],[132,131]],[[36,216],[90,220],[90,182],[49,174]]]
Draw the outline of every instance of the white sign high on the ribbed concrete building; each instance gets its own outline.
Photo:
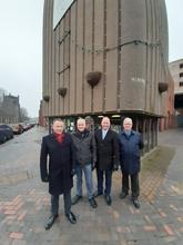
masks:
[[[74,0],[54,0],[53,2],[53,29],[64,16]]]

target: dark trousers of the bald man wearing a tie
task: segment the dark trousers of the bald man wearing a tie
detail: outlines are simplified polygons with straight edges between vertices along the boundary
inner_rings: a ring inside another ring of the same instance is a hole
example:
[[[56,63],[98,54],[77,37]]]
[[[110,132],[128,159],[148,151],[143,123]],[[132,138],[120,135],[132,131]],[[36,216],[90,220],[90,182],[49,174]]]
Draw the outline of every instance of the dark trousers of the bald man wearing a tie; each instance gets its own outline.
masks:
[[[105,195],[110,196],[111,194],[111,186],[112,186],[112,169],[100,170],[96,169],[96,177],[98,177],[98,193],[103,193],[103,176],[105,176]]]

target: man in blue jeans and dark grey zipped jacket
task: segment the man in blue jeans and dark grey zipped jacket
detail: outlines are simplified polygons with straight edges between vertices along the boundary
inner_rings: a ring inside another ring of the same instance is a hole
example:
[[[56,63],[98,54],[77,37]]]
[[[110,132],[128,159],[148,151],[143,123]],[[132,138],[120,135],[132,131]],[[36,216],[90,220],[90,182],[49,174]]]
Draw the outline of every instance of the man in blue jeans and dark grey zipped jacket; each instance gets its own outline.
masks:
[[[77,195],[72,199],[72,205],[82,198],[82,174],[84,173],[89,203],[95,208],[98,204],[93,197],[92,169],[95,167],[96,147],[94,135],[87,130],[84,119],[78,119],[77,131],[72,134],[72,139],[77,149]]]

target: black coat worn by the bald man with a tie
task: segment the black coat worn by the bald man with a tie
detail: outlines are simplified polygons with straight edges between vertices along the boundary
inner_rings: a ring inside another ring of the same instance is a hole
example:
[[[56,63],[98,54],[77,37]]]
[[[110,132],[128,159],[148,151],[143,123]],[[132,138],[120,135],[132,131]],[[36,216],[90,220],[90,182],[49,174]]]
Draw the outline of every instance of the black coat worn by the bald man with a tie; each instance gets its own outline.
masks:
[[[111,129],[108,130],[102,139],[102,129],[95,131],[96,141],[96,168],[106,170],[119,165],[119,143],[118,134]]]

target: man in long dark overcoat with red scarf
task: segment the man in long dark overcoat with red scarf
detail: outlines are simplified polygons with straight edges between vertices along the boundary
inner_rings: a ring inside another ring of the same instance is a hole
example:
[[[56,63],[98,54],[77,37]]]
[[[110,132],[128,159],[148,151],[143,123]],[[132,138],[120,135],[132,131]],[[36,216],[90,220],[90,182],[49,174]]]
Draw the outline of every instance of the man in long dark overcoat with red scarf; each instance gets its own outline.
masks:
[[[63,194],[64,213],[68,220],[77,223],[71,212],[71,188],[73,187],[74,146],[69,134],[63,131],[64,122],[53,121],[53,134],[42,138],[40,154],[40,173],[42,182],[49,183],[51,194],[51,215],[45,223],[45,229],[51,228],[59,213],[59,195]],[[49,166],[48,166],[49,156]]]

